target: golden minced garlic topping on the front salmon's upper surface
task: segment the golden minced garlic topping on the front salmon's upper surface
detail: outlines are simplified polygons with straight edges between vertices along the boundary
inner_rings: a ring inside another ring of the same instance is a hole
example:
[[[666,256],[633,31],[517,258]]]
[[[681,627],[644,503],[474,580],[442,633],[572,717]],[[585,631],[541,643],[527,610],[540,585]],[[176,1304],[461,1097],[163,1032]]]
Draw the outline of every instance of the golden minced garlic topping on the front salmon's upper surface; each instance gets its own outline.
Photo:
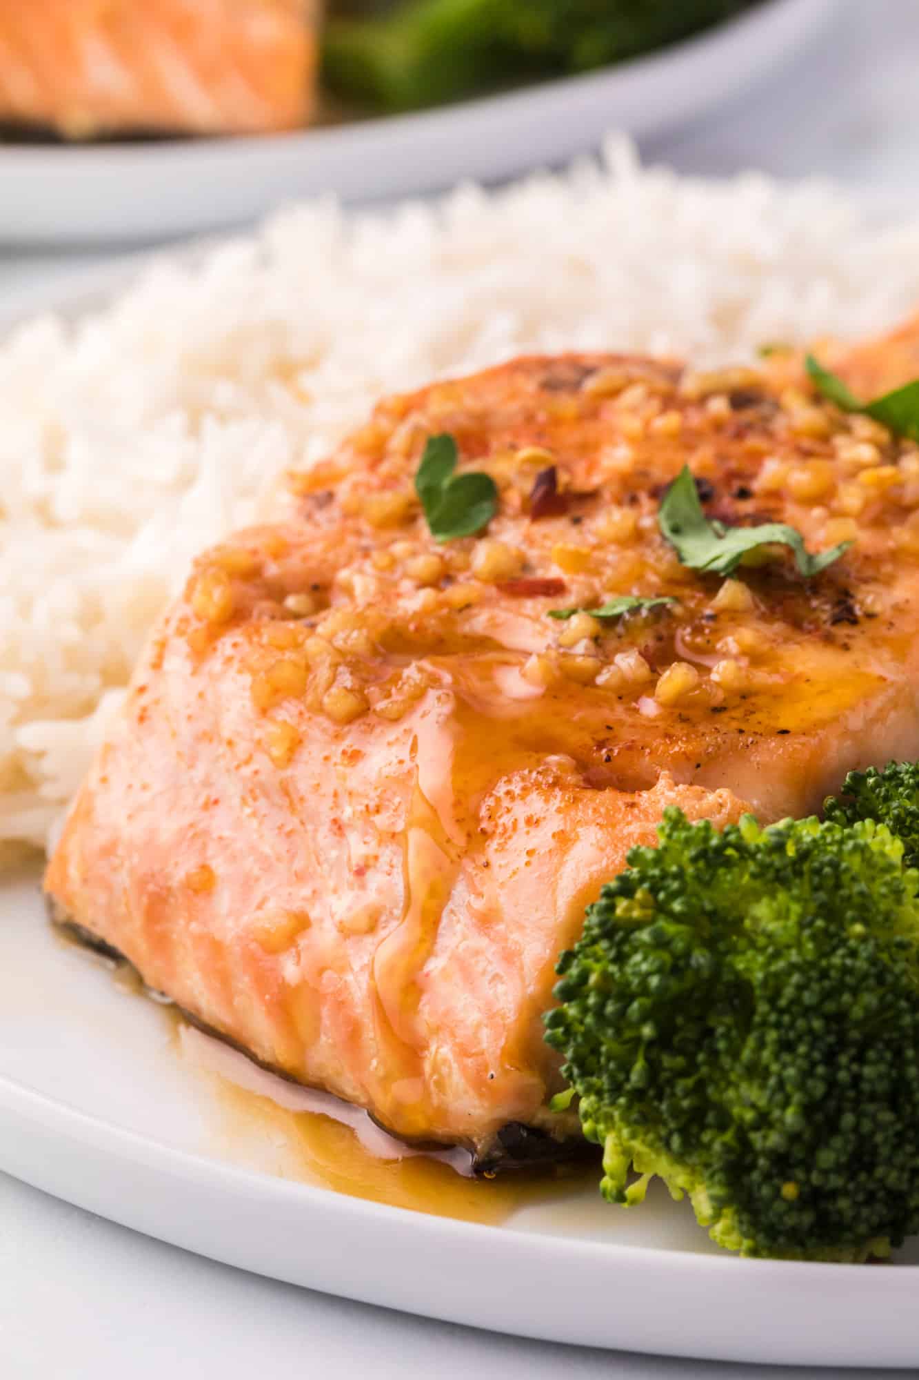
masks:
[[[414,475],[443,432],[457,472],[490,475],[500,501],[487,530],[437,542]],[[657,524],[684,464],[712,520],[854,545],[811,581],[782,548],[727,580],[697,574]],[[600,722],[614,705],[620,736],[629,715],[665,731],[730,713],[758,731],[780,691],[806,720],[814,684],[835,693],[867,629],[873,656],[886,571],[919,556],[919,447],[749,368],[524,360],[381,403],[331,461],[290,476],[284,506],[283,529],[210,552],[189,584],[193,654],[244,629],[259,713],[294,700],[334,724],[393,722],[454,680],[479,712],[504,712],[495,667],[515,665],[520,715]],[[591,613],[617,595],[678,602]],[[581,611],[548,617],[562,607]],[[272,720],[264,742],[284,766],[297,730]]]

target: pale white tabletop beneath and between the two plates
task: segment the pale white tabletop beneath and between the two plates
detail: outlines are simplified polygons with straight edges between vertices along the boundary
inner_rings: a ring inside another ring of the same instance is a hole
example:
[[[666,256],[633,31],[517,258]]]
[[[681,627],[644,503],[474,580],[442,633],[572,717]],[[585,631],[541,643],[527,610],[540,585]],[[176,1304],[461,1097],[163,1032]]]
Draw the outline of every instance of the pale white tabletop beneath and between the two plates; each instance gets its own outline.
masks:
[[[748,101],[644,152],[687,172],[820,172],[893,204],[915,203],[918,75],[919,4],[840,0],[839,19],[817,50]],[[0,310],[30,284],[97,258],[36,255],[28,247],[0,254]],[[713,1326],[716,1319],[713,1300]],[[186,1254],[0,1174],[3,1380],[352,1380],[362,1373],[373,1380],[804,1374],[553,1347],[345,1303]]]

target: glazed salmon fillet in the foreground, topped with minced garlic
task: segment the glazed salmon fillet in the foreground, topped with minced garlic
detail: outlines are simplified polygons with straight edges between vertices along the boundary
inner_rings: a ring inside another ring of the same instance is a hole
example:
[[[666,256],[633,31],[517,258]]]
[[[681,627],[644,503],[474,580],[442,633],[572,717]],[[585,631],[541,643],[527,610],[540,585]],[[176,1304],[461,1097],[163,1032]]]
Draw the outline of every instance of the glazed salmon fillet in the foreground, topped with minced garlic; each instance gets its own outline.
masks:
[[[437,544],[413,480],[443,432],[500,502]],[[782,548],[697,574],[657,524],[684,464],[711,518],[853,546],[810,581]],[[48,891],[397,1134],[563,1136],[553,966],[662,809],[803,814],[919,755],[918,505],[915,444],[749,370],[520,359],[389,399],[197,562]],[[679,602],[548,617],[621,593]]]

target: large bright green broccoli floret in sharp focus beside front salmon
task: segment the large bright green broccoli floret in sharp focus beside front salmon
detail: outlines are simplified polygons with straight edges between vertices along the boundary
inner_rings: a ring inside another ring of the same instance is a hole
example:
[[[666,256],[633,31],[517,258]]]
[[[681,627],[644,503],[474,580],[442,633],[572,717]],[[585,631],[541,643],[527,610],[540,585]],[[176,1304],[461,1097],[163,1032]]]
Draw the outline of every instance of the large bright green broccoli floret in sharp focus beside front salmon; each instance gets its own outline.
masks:
[[[669,809],[658,835],[546,1016],[603,1195],[660,1174],[741,1254],[889,1254],[919,1228],[919,874],[872,822],[719,834]]]

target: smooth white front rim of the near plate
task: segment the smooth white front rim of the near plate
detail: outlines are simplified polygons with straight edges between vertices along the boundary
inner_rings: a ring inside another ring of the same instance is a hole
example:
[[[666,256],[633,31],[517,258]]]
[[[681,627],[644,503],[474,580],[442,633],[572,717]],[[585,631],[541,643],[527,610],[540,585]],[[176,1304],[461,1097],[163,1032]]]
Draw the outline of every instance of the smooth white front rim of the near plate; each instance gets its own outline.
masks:
[[[164,1144],[8,1075],[0,1167],[207,1259],[466,1326],[740,1362],[894,1368],[919,1354],[916,1265],[741,1260],[433,1217]],[[304,1228],[293,1249],[291,1225]],[[406,1257],[421,1268],[393,1268]],[[424,1268],[433,1259],[440,1268]],[[718,1330],[715,1290],[733,1296]]]

